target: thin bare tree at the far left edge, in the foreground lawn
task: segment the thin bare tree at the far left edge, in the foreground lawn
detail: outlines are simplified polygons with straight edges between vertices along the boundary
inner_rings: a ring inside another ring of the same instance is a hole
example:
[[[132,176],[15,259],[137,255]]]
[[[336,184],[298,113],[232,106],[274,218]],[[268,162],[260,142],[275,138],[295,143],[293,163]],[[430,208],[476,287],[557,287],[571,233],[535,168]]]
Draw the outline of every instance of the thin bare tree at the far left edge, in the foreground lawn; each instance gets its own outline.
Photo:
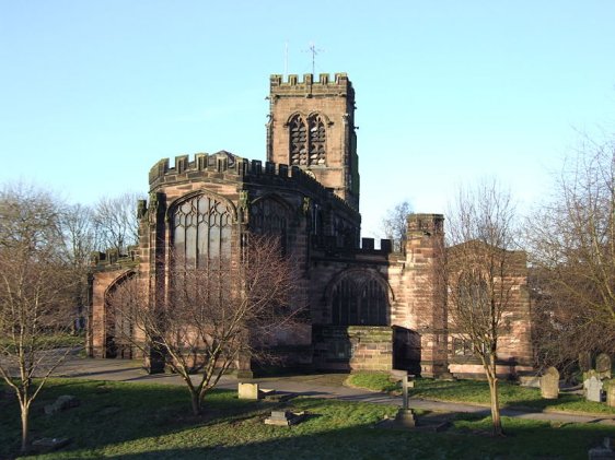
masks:
[[[22,451],[31,404],[68,353],[54,350],[51,340],[72,318],[59,208],[24,186],[0,192],[0,376],[20,403]]]

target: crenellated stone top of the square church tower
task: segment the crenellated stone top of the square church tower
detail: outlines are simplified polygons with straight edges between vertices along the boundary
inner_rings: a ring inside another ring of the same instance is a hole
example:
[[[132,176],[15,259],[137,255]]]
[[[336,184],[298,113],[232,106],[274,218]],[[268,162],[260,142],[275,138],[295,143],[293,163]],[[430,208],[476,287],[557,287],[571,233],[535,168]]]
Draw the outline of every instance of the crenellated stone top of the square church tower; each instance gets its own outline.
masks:
[[[321,73],[317,81],[314,80],[312,73],[303,74],[302,80],[299,80],[297,74],[290,74],[286,80],[282,75],[274,74],[269,78],[269,89],[274,97],[295,96],[298,94],[355,96],[352,83],[350,83],[346,73],[335,73],[333,79],[328,73]]]

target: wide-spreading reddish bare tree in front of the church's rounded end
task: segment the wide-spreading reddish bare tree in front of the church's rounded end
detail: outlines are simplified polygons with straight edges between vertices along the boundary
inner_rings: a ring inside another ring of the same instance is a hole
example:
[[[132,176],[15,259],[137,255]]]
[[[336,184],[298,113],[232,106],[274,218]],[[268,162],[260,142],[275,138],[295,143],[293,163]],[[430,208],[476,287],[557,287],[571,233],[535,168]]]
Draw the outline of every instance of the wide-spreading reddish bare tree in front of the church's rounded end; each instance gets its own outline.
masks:
[[[267,339],[292,329],[293,263],[277,238],[251,235],[241,262],[192,267],[175,261],[164,300],[151,305],[143,280],[113,294],[116,325],[142,352],[150,347],[185,381],[194,414],[220,377],[241,358],[265,359]],[[192,379],[196,375],[196,379]]]

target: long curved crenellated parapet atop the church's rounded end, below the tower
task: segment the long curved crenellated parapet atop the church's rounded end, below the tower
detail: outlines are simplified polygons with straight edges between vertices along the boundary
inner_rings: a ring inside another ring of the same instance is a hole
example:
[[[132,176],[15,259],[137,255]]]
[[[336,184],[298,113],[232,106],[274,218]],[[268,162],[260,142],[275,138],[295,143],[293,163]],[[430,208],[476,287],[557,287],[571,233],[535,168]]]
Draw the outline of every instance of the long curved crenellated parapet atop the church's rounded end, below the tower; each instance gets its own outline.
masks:
[[[242,158],[225,151],[213,154],[197,153],[193,161],[189,160],[188,155],[181,155],[175,157],[173,167],[170,166],[170,158],[162,158],[150,169],[150,190],[176,182],[208,179],[264,185],[281,181],[286,187],[301,187],[314,196],[323,197],[326,194],[327,200],[348,208],[352,213],[357,212],[330,189],[305,174],[299,166]]]

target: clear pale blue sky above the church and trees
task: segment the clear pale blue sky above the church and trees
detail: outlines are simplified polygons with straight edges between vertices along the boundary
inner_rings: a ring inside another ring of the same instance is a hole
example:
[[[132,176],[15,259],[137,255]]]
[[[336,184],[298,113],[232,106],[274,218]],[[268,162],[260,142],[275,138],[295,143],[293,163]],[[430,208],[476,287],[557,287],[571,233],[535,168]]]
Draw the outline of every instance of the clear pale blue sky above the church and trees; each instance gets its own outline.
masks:
[[[615,132],[615,2],[3,1],[0,182],[93,203],[162,157],[264,160],[270,73],[348,72],[365,234],[497,176],[527,207]],[[597,134],[596,134],[597,135]]]

